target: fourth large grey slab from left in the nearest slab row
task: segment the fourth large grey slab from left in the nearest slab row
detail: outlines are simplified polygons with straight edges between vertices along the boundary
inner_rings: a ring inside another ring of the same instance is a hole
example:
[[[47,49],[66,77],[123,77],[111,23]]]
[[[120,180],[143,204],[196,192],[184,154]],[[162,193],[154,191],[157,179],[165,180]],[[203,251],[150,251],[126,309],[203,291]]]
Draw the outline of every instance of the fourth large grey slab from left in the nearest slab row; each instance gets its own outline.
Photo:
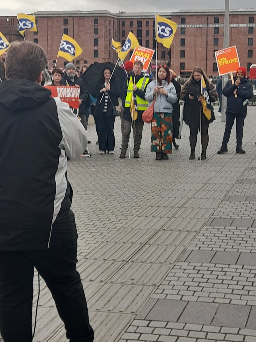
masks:
[[[251,306],[220,304],[212,325],[245,328]]]

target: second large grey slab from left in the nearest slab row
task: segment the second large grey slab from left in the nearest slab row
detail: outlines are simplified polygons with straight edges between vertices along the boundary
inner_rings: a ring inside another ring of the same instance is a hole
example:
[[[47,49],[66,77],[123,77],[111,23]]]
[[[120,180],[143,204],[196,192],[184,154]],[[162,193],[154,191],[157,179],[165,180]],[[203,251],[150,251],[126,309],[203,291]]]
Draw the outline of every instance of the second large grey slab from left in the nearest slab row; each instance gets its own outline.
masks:
[[[159,299],[146,316],[146,319],[176,322],[186,305],[186,301]]]

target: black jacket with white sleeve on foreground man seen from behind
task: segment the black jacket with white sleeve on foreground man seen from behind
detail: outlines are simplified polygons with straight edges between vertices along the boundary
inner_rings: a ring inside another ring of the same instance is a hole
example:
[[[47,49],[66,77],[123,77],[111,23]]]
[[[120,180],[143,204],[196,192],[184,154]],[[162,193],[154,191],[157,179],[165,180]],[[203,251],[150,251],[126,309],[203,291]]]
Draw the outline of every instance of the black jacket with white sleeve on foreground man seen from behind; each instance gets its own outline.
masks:
[[[77,238],[67,158],[86,145],[83,125],[50,90],[25,79],[0,84],[0,250]]]

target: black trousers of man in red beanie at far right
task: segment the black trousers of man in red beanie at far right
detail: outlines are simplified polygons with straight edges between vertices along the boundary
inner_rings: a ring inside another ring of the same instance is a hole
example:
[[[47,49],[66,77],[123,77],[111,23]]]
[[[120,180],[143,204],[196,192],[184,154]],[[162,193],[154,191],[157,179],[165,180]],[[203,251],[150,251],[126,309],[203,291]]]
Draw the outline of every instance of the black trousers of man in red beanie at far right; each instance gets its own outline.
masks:
[[[242,115],[226,113],[226,126],[225,126],[225,132],[223,136],[222,147],[227,148],[231,129],[233,127],[235,118],[237,118],[237,150],[238,150],[242,148],[242,140],[243,140],[243,127],[244,127],[245,117]]]

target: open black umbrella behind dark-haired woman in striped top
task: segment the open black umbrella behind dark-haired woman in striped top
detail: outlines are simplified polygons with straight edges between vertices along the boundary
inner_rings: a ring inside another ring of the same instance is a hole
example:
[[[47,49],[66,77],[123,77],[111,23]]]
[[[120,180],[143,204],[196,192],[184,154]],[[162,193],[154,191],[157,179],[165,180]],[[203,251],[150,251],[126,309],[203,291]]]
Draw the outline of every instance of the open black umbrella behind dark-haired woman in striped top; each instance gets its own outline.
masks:
[[[93,94],[96,84],[101,77],[102,71],[105,68],[108,68],[112,74],[114,67],[115,65],[110,62],[94,63],[89,66],[89,68],[85,71],[85,73],[81,75],[81,78],[84,81],[89,94]],[[113,76],[115,77],[116,82],[118,82],[120,88],[122,88],[125,77],[126,77],[124,69],[121,69],[117,66],[115,68]]]

